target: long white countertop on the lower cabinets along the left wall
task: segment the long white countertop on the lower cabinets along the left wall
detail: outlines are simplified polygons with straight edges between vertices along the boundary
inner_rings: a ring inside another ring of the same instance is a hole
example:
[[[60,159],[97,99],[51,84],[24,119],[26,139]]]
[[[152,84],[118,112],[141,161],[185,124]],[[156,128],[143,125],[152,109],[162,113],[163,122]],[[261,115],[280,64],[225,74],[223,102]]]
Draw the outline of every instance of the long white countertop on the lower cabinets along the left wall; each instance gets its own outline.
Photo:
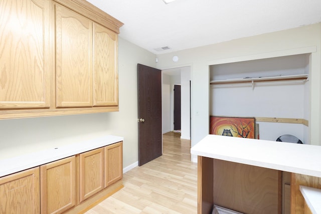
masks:
[[[55,160],[80,154],[85,151],[123,141],[123,137],[106,135],[93,139],[86,139],[77,143],[54,146],[37,152],[17,155],[15,157],[0,159],[0,177],[22,171],[28,168],[46,164]]]

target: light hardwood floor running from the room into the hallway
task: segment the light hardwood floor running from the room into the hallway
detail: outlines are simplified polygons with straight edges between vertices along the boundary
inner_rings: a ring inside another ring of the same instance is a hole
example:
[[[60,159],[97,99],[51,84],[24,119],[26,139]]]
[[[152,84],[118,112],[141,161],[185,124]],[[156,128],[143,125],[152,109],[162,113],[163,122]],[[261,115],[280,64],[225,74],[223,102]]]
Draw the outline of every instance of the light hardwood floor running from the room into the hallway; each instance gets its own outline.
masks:
[[[124,187],[86,214],[197,213],[197,164],[191,141],[163,135],[163,155],[123,175]]]

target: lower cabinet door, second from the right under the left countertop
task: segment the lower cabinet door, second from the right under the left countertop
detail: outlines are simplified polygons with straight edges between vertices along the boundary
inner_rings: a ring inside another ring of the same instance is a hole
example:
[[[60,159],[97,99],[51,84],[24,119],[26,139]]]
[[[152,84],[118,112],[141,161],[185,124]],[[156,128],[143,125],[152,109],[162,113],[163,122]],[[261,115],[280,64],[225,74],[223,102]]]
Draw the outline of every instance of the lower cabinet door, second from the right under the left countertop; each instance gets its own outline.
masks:
[[[104,148],[80,154],[80,202],[104,188]]]

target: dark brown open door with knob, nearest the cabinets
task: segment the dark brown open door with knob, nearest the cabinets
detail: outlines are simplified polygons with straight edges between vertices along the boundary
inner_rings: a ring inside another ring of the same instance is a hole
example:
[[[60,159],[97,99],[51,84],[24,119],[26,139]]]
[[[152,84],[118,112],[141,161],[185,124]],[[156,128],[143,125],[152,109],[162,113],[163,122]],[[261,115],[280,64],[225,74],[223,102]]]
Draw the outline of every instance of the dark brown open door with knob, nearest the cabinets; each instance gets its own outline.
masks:
[[[162,155],[162,71],[137,64],[138,165]]]

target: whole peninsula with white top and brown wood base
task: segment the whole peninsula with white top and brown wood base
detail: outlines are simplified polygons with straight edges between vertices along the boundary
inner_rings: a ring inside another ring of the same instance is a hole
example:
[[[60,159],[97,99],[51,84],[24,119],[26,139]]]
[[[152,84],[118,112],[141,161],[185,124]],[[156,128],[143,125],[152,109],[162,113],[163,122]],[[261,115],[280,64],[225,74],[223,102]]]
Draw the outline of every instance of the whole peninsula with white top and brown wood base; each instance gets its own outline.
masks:
[[[291,176],[291,213],[312,213],[304,212],[300,185],[321,188],[320,146],[207,135],[191,153],[198,155],[198,213],[210,213],[214,204],[282,213],[282,172]]]

